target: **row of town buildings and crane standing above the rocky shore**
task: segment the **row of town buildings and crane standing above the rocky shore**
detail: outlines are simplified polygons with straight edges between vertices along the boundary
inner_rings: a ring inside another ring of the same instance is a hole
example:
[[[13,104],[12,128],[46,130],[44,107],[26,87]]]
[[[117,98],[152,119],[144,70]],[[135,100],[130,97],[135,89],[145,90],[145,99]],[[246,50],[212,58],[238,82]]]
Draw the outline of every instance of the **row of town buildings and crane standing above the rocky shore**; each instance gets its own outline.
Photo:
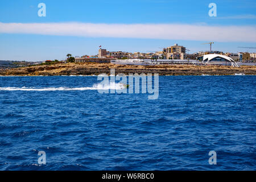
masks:
[[[256,65],[256,53],[249,52],[221,52],[212,51],[214,42],[205,43],[210,45],[210,51],[201,51],[189,53],[189,49],[184,46],[175,44],[162,51],[156,52],[123,52],[107,51],[98,49],[96,56],[76,56],[74,61],[77,63],[96,62],[96,63],[113,63],[127,65],[157,65],[157,64],[190,64],[190,65],[228,65],[239,67],[240,65]],[[249,47],[250,48],[250,47]]]

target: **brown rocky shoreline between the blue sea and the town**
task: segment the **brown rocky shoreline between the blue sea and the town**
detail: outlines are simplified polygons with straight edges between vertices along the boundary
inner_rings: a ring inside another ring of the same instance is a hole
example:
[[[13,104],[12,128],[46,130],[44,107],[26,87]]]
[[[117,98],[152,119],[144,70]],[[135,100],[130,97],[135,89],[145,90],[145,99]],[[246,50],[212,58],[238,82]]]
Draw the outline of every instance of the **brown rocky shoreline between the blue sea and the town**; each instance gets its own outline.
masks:
[[[36,65],[31,67],[0,70],[1,76],[61,76],[61,75],[110,75],[124,73],[159,73],[159,75],[256,75],[256,66],[196,66],[196,65],[120,65],[111,63],[68,63],[53,65]]]

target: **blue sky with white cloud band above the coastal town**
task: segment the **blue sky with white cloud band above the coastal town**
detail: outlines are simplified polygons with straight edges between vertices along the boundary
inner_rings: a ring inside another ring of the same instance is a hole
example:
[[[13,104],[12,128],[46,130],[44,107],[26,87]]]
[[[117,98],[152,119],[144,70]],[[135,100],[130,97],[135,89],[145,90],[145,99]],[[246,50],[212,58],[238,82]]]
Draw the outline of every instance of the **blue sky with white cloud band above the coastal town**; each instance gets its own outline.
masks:
[[[212,2],[217,5],[217,17],[208,15],[210,10],[208,5]],[[38,16],[39,3],[46,4],[46,17]],[[214,42],[213,50],[253,51],[253,49],[237,47],[256,47],[255,10],[255,0],[1,1],[0,60],[61,60],[67,53],[71,53],[73,56],[95,55],[100,45],[109,51],[147,52],[160,51],[161,47],[178,43],[187,47],[191,50],[190,52],[197,52],[208,50],[209,46],[202,44],[208,41]],[[15,24],[15,27],[12,27],[11,23],[20,24]],[[32,24],[31,28],[31,23],[37,24],[36,26]],[[68,27],[68,30],[63,32],[63,29],[66,28],[59,26],[60,23],[67,23],[65,26]],[[72,23],[77,24],[74,26]],[[111,26],[114,24],[114,26],[109,27],[109,24]],[[136,26],[136,24],[142,28],[134,29],[133,25]],[[152,29],[146,30],[147,27],[144,27],[144,24],[151,24]],[[50,30],[47,29],[48,25]],[[119,35],[121,32],[119,30],[127,25],[132,25],[131,30],[124,31]],[[157,34],[155,30],[158,30],[158,27],[164,28],[166,25],[170,25],[170,28],[161,30],[163,35],[155,35]],[[179,30],[180,25],[185,28]],[[72,29],[72,26],[76,30],[83,27],[82,33]],[[94,26],[100,27],[98,34],[89,34],[88,26],[90,31],[95,30]],[[192,26],[192,33],[189,32],[189,26]],[[205,31],[200,26],[215,27],[216,29],[212,28],[212,34],[204,35]],[[232,27],[229,29],[234,30],[230,31],[232,34],[230,37],[233,36],[234,40],[224,34],[229,26]],[[42,28],[39,30],[34,27]],[[218,27],[222,29],[219,30]],[[114,35],[110,32],[113,28],[117,30],[113,33]],[[131,32],[132,30],[135,31]],[[155,32],[150,32],[151,30]],[[201,30],[202,32],[200,32]],[[214,31],[219,32],[214,34]],[[174,32],[174,36],[171,35],[172,32]],[[196,36],[193,36],[194,33],[202,34],[202,39],[197,40]],[[164,34],[167,35],[166,38]],[[242,37],[238,38],[239,36]],[[254,52],[256,52],[255,49]]]

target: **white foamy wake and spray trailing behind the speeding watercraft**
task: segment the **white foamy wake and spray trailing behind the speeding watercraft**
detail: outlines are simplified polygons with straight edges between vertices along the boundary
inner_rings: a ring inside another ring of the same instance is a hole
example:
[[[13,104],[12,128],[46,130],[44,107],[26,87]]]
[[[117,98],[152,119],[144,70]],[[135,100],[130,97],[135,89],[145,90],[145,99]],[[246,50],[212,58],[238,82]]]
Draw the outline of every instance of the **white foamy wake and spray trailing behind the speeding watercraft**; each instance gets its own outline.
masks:
[[[35,88],[35,87],[0,87],[0,90],[6,91],[73,91],[73,90],[120,90],[125,89],[126,85],[122,83],[110,82],[110,84],[94,84],[92,87],[78,87],[78,88],[68,88],[68,87],[49,87],[49,88]]]

